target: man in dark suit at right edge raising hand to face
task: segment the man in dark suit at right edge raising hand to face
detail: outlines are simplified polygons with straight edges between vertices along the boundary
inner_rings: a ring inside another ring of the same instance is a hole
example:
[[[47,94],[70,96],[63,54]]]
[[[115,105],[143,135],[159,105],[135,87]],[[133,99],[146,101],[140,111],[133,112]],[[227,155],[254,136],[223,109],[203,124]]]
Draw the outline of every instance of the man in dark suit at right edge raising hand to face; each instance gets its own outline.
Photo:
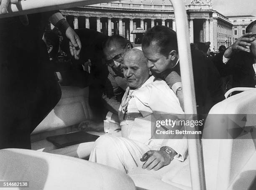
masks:
[[[221,76],[233,76],[232,87],[255,87],[256,85],[256,21],[250,23],[246,33],[213,59]]]

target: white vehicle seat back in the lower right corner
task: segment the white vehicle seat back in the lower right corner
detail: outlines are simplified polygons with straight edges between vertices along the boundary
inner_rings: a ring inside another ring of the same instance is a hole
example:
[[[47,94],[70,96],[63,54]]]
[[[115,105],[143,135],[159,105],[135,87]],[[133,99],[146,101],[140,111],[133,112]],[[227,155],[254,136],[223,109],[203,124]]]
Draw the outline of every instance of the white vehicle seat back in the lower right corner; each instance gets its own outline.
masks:
[[[218,123],[207,124],[211,114],[233,114],[232,118],[236,119],[234,121],[241,121],[240,117],[247,114],[249,119],[246,121],[246,126],[253,125],[255,134],[256,89],[241,92],[213,106],[205,122],[203,137],[214,130],[223,130],[218,129],[220,126]],[[236,127],[235,122],[229,124],[229,129]],[[254,138],[252,134],[247,133],[235,139],[202,139],[207,190],[256,189],[256,140]]]

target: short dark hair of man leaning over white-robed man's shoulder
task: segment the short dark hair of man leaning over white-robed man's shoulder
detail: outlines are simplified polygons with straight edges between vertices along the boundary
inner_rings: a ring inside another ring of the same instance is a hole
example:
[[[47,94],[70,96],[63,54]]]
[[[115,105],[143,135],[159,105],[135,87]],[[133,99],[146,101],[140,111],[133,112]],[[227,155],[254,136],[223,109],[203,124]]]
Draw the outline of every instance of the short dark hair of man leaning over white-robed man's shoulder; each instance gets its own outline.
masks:
[[[146,31],[142,40],[142,47],[148,47],[152,42],[156,42],[160,47],[160,53],[164,56],[168,56],[172,50],[178,52],[176,32],[166,26],[157,25]]]

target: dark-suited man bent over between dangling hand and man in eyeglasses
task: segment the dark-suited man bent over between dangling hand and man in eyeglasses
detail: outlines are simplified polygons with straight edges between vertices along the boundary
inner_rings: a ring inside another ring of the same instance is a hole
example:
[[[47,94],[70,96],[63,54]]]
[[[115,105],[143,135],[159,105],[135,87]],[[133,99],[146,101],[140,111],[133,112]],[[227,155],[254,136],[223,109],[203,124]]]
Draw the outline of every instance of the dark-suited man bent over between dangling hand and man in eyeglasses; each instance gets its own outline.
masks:
[[[102,106],[101,98],[108,78],[103,43],[108,36],[87,28],[79,28],[75,32],[82,43],[79,60],[71,58],[72,66],[70,69],[60,71],[60,73],[64,76],[64,85],[79,86],[81,88],[89,86],[90,108],[94,113],[95,120],[102,119],[104,106]],[[64,38],[61,48],[69,57],[72,56],[69,52],[68,39]]]

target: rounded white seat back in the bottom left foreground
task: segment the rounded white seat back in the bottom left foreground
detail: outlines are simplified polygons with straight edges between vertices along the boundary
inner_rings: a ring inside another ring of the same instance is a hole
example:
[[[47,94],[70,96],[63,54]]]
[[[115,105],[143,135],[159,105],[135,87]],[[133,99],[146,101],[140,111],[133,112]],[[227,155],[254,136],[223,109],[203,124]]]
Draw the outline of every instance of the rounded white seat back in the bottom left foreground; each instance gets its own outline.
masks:
[[[0,160],[0,181],[31,190],[135,190],[125,173],[87,160],[28,149],[1,149]]]

